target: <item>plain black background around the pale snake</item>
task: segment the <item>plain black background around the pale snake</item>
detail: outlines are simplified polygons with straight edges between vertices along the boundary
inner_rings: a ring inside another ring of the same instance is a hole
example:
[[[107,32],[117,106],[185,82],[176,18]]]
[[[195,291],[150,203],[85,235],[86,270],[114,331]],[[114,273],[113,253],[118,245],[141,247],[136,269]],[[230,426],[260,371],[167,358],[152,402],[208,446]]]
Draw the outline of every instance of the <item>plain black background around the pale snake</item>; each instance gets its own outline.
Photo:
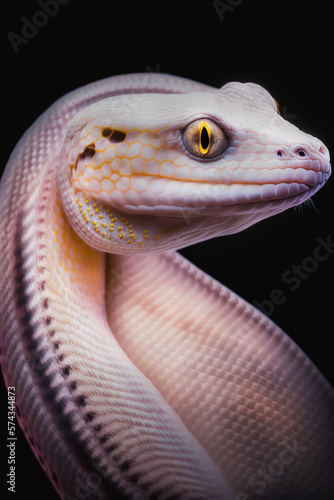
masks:
[[[259,83],[279,101],[283,116],[334,152],[330,2],[226,0],[229,4],[230,10],[219,16],[215,2],[203,0],[71,0],[28,43],[20,44],[18,53],[7,34],[21,35],[22,16],[32,20],[41,7],[37,1],[7,6],[1,38],[2,167],[23,132],[57,98],[100,78],[145,71],[218,87],[233,80]],[[308,207],[303,213],[288,210],[182,253],[249,302],[281,289],[286,300],[275,306],[271,318],[333,382],[334,255],[320,262],[296,291],[282,282],[293,264],[313,255],[318,237],[334,241],[332,195],[330,179],[314,197],[319,213]],[[2,385],[0,397],[1,455],[6,458]],[[17,435],[14,498],[57,498],[23,435]],[[1,470],[3,474],[7,466]],[[1,489],[6,495],[5,485]]]

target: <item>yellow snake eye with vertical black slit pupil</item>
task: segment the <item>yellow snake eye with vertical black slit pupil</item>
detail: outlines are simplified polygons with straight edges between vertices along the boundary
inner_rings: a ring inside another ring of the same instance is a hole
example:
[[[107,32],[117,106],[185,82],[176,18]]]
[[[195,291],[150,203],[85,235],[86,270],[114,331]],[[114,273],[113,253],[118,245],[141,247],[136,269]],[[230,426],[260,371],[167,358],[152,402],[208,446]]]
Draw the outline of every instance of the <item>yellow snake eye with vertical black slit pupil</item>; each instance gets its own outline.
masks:
[[[228,148],[228,140],[222,129],[212,120],[196,120],[183,132],[187,150],[199,158],[214,158]]]

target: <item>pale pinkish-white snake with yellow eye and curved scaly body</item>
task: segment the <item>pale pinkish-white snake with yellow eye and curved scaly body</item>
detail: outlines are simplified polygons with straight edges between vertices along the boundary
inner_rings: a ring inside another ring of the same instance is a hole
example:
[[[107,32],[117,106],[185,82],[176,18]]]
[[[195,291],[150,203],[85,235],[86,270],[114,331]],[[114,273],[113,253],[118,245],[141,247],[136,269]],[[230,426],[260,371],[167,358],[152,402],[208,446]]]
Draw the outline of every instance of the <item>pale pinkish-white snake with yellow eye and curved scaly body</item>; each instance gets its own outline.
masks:
[[[334,495],[332,388],[175,252],[329,175],[322,142],[251,83],[112,77],[24,134],[0,189],[1,362],[61,498]]]

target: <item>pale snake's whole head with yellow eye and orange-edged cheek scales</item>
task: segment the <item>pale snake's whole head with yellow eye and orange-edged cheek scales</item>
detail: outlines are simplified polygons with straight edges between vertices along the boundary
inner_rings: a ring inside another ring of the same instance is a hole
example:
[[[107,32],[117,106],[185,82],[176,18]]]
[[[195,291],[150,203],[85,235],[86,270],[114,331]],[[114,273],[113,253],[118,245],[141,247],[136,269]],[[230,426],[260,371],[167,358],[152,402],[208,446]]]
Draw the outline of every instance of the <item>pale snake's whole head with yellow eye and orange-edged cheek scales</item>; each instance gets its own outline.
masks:
[[[329,175],[325,145],[284,120],[265,89],[237,82],[97,102],[71,121],[58,157],[72,226],[112,253],[241,231],[305,201]]]

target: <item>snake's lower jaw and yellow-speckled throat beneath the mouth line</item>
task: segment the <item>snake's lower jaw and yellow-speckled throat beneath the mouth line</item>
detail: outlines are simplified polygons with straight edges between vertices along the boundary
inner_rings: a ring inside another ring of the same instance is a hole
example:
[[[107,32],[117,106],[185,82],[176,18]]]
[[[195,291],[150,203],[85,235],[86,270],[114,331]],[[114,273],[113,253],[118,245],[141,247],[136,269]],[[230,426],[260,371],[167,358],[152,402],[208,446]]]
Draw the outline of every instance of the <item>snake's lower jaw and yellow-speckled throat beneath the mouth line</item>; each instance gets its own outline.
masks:
[[[74,201],[79,209],[77,221],[81,219],[81,224],[73,227],[88,245],[106,252],[128,254],[176,250],[208,237],[242,231],[304,202],[324,183],[325,180],[311,188],[300,186],[300,192],[281,199],[209,207],[115,208],[96,204],[81,193]]]

